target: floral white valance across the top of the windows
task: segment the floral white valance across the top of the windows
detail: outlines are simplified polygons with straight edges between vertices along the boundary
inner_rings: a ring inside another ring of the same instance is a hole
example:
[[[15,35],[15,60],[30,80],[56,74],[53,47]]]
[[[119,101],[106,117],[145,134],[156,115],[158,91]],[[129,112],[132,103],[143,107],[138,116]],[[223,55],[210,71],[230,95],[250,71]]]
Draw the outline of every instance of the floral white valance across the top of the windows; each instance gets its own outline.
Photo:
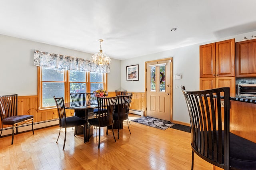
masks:
[[[96,65],[90,60],[43,51],[34,51],[34,65],[52,69],[90,71],[94,73],[110,73],[110,65]]]

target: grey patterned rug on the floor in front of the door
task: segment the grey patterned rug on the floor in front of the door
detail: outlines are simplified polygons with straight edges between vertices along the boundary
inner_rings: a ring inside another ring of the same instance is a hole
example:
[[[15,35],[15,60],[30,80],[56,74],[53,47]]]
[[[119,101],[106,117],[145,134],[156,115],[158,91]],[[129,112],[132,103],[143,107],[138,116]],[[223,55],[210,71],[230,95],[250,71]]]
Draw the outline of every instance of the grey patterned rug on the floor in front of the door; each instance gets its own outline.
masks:
[[[148,116],[140,117],[138,119],[133,119],[132,121],[136,122],[136,123],[140,123],[142,125],[149,126],[149,127],[162,129],[162,130],[166,130],[167,128],[174,125],[174,123],[171,123],[170,121],[164,121],[161,119],[156,119],[156,118],[148,117]]]

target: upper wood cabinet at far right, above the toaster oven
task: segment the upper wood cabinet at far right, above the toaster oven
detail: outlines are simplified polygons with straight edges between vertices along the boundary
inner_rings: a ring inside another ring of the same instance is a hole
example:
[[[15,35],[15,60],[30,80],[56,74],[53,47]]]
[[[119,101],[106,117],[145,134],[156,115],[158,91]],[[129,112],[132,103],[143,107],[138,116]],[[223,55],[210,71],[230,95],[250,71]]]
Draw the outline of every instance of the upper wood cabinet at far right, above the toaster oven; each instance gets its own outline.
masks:
[[[256,77],[256,39],[236,43],[236,77]]]

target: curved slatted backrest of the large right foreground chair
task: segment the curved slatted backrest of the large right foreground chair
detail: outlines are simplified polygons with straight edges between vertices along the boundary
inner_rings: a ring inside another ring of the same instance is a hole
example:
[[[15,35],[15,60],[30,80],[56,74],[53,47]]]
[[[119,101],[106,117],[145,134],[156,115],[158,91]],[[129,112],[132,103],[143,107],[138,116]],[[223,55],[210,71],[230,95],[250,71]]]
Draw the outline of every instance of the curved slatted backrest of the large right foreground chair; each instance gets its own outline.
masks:
[[[203,91],[183,87],[182,92],[190,116],[192,150],[211,164],[229,167],[229,87]]]

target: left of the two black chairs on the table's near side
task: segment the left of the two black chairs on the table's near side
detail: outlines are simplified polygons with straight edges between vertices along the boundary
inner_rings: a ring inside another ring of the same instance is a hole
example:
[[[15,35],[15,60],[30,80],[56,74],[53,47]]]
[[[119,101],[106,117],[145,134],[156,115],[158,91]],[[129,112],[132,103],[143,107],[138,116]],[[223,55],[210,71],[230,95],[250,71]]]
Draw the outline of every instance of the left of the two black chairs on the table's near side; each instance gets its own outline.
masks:
[[[89,125],[99,127],[98,148],[100,148],[100,129],[101,129],[101,127],[108,127],[113,124],[113,114],[114,114],[114,109],[115,109],[116,102],[117,102],[117,96],[115,96],[115,97],[97,97],[97,100],[98,100],[98,117],[89,119],[88,122],[89,122]],[[112,126],[112,132],[113,132],[114,140],[116,142],[113,126]],[[106,134],[108,135],[108,128],[106,129]],[[88,132],[88,136],[89,135],[90,135],[90,129]]]

